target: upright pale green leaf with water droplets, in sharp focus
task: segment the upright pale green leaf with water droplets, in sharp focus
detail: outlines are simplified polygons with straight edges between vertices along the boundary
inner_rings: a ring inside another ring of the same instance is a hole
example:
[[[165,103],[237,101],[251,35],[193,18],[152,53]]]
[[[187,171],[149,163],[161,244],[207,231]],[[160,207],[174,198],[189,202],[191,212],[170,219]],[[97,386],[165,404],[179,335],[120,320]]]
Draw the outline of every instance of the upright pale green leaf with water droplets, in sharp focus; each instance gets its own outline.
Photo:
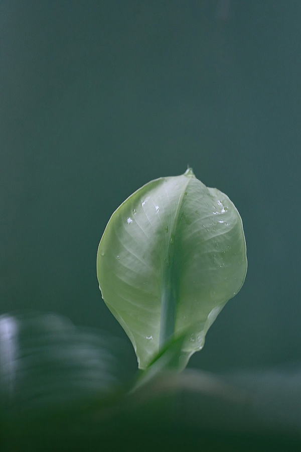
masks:
[[[151,181],[112,214],[97,253],[102,297],[146,368],[180,334],[201,350],[247,269],[242,221],[228,196],[191,169]]]

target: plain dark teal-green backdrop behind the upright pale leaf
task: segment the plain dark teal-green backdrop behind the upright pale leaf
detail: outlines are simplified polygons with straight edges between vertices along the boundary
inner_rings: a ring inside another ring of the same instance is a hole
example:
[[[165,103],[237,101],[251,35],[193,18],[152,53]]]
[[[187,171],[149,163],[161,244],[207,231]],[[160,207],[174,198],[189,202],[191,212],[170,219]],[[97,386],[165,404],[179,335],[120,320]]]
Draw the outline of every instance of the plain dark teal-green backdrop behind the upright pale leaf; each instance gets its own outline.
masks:
[[[113,210],[189,163],[244,222],[248,274],[190,367],[299,358],[301,4],[0,3],[1,313],[123,337],[96,279]]]

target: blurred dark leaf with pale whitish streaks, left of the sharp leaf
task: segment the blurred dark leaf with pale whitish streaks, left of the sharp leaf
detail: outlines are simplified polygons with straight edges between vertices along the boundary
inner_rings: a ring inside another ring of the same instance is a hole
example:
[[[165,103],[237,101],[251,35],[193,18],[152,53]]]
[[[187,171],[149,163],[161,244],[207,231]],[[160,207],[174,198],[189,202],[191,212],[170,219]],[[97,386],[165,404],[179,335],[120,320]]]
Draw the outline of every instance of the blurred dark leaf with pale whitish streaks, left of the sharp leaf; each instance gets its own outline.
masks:
[[[0,317],[1,411],[58,408],[106,399],[125,385],[120,341],[54,314]]]

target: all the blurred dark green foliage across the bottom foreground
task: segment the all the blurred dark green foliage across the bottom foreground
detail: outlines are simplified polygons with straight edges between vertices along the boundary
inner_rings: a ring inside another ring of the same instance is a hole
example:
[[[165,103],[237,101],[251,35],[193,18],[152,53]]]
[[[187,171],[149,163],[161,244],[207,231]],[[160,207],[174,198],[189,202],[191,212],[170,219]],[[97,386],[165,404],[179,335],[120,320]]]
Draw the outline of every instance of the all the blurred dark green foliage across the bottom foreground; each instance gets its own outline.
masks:
[[[299,445],[297,368],[218,376],[162,364],[137,385],[134,375],[120,379],[119,340],[65,318],[4,315],[0,335],[4,452]]]

